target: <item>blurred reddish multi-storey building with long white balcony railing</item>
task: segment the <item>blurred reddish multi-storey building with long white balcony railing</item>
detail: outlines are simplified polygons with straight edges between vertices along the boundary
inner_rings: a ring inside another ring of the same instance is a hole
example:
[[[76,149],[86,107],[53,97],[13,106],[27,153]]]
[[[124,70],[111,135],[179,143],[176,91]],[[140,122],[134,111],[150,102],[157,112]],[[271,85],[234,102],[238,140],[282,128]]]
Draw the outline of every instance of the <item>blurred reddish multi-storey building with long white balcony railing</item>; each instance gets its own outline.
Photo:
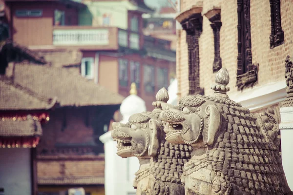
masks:
[[[175,52],[170,40],[143,34],[142,14],[150,9],[143,1],[129,2],[140,9],[126,12],[127,29],[79,25],[87,7],[73,0],[4,0],[2,23],[13,41],[29,49],[81,51],[80,73],[113,92],[126,97],[136,82],[151,110],[156,92],[175,75]]]

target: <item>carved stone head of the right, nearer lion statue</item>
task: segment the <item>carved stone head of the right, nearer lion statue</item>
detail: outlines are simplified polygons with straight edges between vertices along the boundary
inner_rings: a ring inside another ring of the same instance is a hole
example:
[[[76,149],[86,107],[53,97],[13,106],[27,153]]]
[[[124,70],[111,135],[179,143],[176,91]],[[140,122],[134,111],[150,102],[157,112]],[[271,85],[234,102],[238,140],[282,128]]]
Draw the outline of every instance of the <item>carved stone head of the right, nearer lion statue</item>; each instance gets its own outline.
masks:
[[[201,96],[187,96],[177,108],[163,108],[160,114],[166,140],[177,144],[211,144],[221,125],[221,115],[213,101]]]

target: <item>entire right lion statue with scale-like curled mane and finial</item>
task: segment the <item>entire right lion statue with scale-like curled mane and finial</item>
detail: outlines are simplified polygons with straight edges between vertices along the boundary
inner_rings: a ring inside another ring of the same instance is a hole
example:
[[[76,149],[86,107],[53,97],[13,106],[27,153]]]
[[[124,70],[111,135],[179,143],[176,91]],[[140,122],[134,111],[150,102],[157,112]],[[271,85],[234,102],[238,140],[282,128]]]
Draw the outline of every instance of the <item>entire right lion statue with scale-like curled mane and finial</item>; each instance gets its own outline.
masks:
[[[193,148],[181,176],[186,195],[291,193],[273,113],[253,115],[230,100],[227,79],[227,69],[221,69],[214,96],[187,96],[160,114],[166,140]]]

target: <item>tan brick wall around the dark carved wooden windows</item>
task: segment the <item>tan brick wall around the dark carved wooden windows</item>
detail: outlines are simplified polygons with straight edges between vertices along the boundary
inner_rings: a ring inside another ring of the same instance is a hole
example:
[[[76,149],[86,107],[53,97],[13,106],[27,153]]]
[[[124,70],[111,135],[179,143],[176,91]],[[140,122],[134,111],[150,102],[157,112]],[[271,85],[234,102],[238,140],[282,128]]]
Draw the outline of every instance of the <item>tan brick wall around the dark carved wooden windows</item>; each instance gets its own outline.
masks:
[[[191,6],[192,0],[181,0],[181,12]],[[204,2],[205,6],[212,7]],[[196,1],[197,2],[197,1]],[[214,6],[219,6],[215,1]],[[258,82],[255,86],[270,82],[285,80],[285,59],[293,53],[293,31],[290,29],[293,22],[293,3],[291,0],[281,1],[281,22],[284,31],[285,43],[273,49],[270,48],[271,9],[269,0],[251,1],[251,52],[252,63],[259,63]],[[198,3],[198,2],[197,2]],[[222,27],[220,31],[220,56],[222,66],[230,73],[230,94],[237,91],[237,0],[223,0],[220,3]],[[203,16],[203,32],[199,39],[200,56],[200,86],[205,89],[206,95],[211,95],[210,84],[214,82],[212,73],[214,59],[213,33],[209,20]],[[188,50],[186,33],[177,31],[176,71],[178,78],[179,98],[188,94]],[[249,89],[245,89],[249,90]]]

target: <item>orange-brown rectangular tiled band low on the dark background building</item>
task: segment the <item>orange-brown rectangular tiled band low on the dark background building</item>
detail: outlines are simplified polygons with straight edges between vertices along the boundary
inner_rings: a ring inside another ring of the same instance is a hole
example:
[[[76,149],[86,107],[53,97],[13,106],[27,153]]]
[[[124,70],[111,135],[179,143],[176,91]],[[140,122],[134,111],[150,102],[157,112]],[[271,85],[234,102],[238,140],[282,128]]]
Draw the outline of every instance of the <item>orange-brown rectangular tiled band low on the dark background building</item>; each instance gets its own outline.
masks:
[[[104,184],[105,160],[94,157],[40,159],[37,161],[39,185]]]

